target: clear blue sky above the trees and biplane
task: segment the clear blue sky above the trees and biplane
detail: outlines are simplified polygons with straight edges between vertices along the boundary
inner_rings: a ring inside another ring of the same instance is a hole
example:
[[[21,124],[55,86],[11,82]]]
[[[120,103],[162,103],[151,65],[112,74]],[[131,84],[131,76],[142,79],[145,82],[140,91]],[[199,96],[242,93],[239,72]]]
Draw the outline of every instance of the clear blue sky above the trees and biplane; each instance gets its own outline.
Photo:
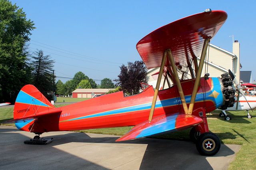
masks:
[[[119,66],[140,60],[136,43],[153,30],[207,8],[224,10],[228,19],[211,41],[232,52],[240,42],[242,71],[256,79],[256,1],[96,1],[12,0],[34,21],[30,51],[42,49],[56,61],[56,76],[82,71],[92,79],[117,78]],[[66,51],[64,51],[66,50]],[[63,82],[66,79],[61,79]],[[100,83],[100,81],[96,81]]]

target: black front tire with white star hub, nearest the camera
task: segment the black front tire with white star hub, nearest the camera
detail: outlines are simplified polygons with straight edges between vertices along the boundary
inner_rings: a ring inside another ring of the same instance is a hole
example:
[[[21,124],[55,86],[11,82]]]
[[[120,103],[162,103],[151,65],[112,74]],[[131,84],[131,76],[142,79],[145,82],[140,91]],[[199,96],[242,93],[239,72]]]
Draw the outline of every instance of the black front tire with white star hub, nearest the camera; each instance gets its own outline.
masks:
[[[201,155],[213,156],[220,150],[220,139],[212,132],[206,132],[199,136],[196,149]]]

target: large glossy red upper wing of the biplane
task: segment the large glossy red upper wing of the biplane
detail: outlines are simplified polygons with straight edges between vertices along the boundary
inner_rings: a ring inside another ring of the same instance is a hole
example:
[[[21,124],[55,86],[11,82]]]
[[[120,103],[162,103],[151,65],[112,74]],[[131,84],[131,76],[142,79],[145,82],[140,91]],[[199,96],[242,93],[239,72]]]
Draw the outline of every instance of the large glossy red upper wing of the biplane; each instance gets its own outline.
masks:
[[[204,39],[213,38],[226,18],[224,11],[188,16],[151,32],[136,48],[148,69],[160,67],[163,53],[169,48],[174,62],[187,65],[187,60],[200,56]]]

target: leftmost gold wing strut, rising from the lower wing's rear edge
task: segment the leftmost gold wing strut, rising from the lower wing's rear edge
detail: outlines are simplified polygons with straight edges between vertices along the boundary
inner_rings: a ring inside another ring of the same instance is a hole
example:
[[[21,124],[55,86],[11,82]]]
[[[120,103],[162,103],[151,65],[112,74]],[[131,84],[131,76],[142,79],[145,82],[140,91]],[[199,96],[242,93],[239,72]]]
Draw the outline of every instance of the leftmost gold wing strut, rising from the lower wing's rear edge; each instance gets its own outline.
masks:
[[[156,99],[157,99],[159,86],[160,86],[163,71],[164,71],[166,56],[167,56],[167,51],[164,51],[164,55],[163,55],[163,58],[162,58],[162,62],[161,62],[161,66],[160,66],[160,70],[159,70],[159,74],[158,74],[158,78],[157,78],[157,82],[156,82],[156,89],[155,89],[155,93],[154,93],[154,97],[153,97],[153,101],[152,101],[152,105],[151,105],[151,109],[150,109],[150,114],[149,114],[149,118],[148,118],[148,121],[150,121],[150,122],[152,121],[154,109],[155,109],[155,106],[156,106]]]

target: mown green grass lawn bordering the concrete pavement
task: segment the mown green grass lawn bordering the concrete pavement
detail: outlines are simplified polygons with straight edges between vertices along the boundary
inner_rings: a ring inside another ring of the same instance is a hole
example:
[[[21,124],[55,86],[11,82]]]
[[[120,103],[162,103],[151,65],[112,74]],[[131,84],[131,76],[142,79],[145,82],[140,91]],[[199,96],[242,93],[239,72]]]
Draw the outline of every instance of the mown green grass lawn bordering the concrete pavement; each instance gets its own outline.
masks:
[[[66,101],[66,100],[65,100]],[[56,105],[61,107],[64,105]],[[0,123],[12,119],[13,108],[0,108]],[[256,116],[252,113],[253,118],[247,119],[244,111],[228,113],[231,115],[231,121],[224,121],[220,118],[219,112],[214,115],[208,115],[208,125],[211,132],[219,136],[224,144],[242,145],[235,160],[230,164],[229,169],[255,169],[256,164]],[[132,128],[132,127],[131,127]],[[90,132],[98,134],[123,135],[130,130],[130,127],[104,128],[79,130],[80,132]],[[165,138],[172,140],[190,140],[190,129],[155,136],[155,138]]]

